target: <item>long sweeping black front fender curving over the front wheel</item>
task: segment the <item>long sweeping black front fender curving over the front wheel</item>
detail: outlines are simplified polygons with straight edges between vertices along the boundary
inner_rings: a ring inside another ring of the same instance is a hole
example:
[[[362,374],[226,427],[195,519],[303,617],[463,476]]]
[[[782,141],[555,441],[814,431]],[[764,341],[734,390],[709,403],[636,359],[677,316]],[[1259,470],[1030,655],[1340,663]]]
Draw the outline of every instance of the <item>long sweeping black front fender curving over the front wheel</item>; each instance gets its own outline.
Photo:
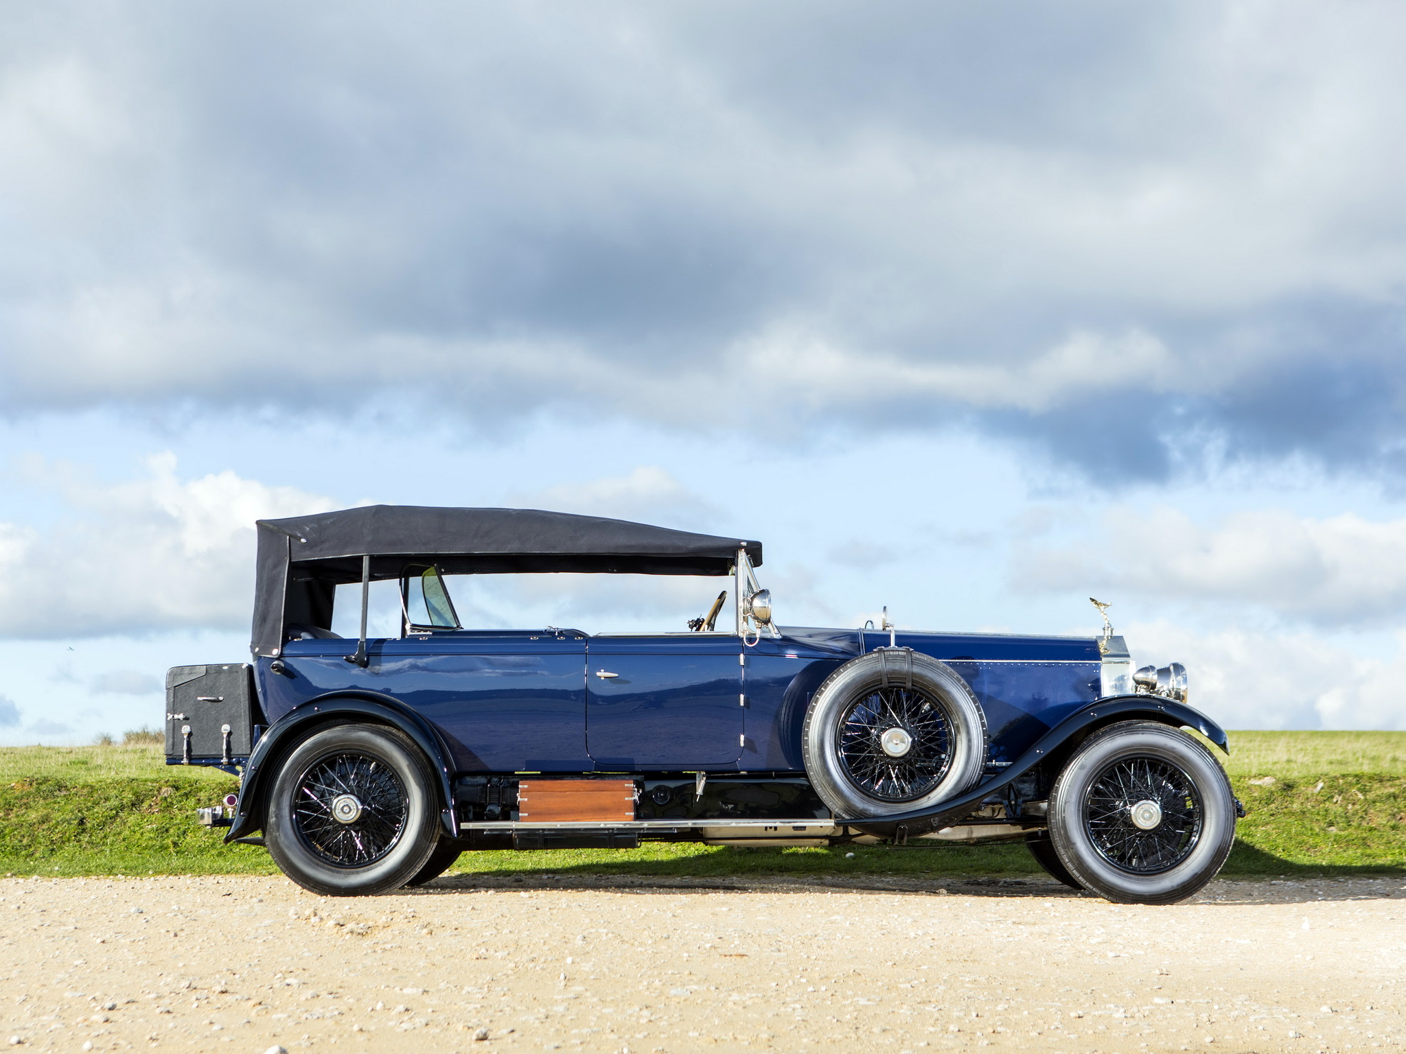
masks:
[[[839,826],[858,828],[866,835],[879,838],[897,838],[903,842],[908,838],[927,835],[963,819],[966,815],[980,808],[981,801],[995,791],[1005,790],[1031,769],[1046,762],[1050,756],[1057,756],[1060,748],[1078,743],[1104,725],[1115,721],[1132,721],[1143,718],[1146,721],[1160,721],[1174,728],[1194,728],[1206,739],[1213,742],[1226,753],[1230,753],[1225,729],[1215,721],[1192,710],[1185,703],[1177,703],[1161,696],[1108,696],[1095,703],[1080,707],[1066,717],[1050,731],[1035,741],[1025,753],[1015,759],[1008,769],[998,772],[976,784],[972,790],[957,798],[943,801],[915,812],[894,812],[887,816],[868,819],[835,819]],[[900,828],[904,828],[900,831]]]

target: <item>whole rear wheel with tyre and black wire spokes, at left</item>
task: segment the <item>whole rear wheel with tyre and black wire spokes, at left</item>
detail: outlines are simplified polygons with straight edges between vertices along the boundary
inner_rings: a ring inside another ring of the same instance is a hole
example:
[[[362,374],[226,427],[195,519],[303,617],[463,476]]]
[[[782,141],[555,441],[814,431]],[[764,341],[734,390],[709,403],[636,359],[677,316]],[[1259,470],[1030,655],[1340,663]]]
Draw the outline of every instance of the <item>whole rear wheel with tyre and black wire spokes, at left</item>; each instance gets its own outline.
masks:
[[[437,845],[429,763],[394,728],[316,732],[284,760],[264,832],[274,863],[305,890],[328,897],[396,890]]]

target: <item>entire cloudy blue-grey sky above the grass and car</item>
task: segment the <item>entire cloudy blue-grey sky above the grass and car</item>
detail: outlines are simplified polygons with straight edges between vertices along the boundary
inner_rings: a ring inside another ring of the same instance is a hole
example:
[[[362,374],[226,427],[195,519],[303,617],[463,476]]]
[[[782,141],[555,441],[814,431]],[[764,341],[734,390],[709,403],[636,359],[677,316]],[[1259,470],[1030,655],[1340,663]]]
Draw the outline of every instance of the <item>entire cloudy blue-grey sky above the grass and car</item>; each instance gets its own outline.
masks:
[[[1403,46],[1374,0],[15,7],[0,742],[159,724],[247,653],[252,521],[367,502],[761,538],[793,624],[1092,593],[1230,727],[1406,728]]]

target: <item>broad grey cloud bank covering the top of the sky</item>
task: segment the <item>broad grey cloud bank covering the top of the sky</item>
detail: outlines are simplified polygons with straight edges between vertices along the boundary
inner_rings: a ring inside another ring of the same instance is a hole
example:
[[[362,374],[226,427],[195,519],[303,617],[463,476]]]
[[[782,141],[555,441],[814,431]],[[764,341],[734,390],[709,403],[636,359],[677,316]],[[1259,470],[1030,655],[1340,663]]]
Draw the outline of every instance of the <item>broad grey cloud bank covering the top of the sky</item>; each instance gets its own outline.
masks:
[[[0,409],[765,406],[1406,478],[1403,21],[45,6],[0,42]]]

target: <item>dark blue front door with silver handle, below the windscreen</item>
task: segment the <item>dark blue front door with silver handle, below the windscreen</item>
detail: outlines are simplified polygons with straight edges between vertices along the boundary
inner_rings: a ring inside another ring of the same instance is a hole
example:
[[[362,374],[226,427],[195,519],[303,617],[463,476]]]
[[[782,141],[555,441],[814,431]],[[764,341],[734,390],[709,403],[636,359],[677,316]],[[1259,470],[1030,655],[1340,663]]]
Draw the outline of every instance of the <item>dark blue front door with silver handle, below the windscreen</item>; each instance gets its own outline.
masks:
[[[742,645],[731,634],[599,635],[586,648],[598,770],[728,767],[742,755]]]

